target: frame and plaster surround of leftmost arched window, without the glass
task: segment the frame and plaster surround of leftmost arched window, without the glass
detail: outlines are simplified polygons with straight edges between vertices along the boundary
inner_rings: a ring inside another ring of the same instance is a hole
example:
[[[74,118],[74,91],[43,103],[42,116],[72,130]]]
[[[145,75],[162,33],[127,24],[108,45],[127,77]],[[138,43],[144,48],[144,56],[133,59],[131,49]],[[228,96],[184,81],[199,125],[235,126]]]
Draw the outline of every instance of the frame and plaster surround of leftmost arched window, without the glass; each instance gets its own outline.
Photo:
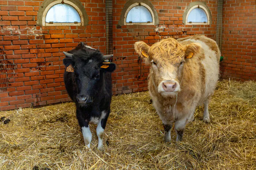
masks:
[[[53,23],[49,24],[45,22],[46,15],[51,7],[53,7],[56,4],[65,3],[68,5],[71,5],[75,10],[79,13],[81,22],[80,23]],[[41,7],[39,8],[38,14],[37,14],[37,25],[40,26],[56,26],[56,25],[88,25],[88,16],[84,9],[83,4],[80,0],[45,0]]]

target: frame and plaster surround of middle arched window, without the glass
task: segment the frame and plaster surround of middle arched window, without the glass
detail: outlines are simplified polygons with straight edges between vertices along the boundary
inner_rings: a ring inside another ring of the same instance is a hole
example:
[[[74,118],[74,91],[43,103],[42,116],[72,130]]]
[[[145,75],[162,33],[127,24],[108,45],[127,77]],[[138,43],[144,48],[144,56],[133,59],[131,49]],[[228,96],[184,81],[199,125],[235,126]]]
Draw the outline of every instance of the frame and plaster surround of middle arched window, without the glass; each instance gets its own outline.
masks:
[[[132,24],[126,23],[126,17],[128,12],[137,5],[142,5],[148,9],[148,11],[151,13],[153,18],[152,23],[132,23]],[[158,23],[159,23],[159,19],[158,19],[157,11],[155,10],[154,5],[151,4],[149,0],[129,0],[124,5],[118,25],[158,25]]]

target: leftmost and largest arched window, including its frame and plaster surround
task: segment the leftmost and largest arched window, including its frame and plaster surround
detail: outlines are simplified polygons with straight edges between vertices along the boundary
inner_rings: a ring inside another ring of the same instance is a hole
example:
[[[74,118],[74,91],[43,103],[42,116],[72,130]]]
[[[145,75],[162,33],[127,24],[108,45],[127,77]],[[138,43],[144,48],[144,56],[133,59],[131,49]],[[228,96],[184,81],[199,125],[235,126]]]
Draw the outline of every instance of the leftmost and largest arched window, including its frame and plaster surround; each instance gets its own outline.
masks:
[[[79,0],[48,0],[39,8],[38,25],[87,25],[88,17]]]

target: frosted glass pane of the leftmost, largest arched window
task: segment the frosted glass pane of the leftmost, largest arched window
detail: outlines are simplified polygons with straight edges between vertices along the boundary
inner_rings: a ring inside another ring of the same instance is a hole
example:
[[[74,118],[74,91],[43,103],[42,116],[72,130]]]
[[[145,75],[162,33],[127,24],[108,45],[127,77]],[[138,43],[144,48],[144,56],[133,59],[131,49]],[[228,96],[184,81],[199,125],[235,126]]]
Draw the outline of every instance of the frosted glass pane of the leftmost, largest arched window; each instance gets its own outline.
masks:
[[[74,7],[68,4],[56,4],[46,14],[45,22],[74,23],[81,22],[80,15]]]

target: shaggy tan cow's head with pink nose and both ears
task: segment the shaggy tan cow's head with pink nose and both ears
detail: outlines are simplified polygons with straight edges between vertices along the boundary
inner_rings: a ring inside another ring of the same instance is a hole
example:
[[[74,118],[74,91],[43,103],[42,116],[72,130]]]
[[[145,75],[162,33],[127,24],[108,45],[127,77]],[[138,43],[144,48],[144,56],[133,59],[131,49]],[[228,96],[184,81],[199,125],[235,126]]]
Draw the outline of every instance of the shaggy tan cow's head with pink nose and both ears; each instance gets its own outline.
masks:
[[[162,96],[173,96],[180,92],[182,68],[193,53],[200,51],[200,44],[191,43],[187,46],[168,38],[153,44],[151,47],[143,41],[135,43],[135,51],[151,64],[150,76],[155,88]]]

